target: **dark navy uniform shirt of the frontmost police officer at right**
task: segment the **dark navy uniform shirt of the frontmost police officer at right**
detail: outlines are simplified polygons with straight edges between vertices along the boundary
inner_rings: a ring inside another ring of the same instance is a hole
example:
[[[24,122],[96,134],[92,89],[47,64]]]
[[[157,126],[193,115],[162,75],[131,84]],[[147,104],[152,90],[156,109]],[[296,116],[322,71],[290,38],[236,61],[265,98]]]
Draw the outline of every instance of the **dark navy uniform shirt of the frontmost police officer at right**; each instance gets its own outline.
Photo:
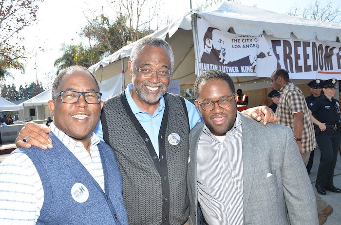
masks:
[[[308,107],[318,121],[326,124],[340,123],[340,110],[337,110],[340,108],[338,100],[332,98],[330,101],[325,95],[322,95]]]

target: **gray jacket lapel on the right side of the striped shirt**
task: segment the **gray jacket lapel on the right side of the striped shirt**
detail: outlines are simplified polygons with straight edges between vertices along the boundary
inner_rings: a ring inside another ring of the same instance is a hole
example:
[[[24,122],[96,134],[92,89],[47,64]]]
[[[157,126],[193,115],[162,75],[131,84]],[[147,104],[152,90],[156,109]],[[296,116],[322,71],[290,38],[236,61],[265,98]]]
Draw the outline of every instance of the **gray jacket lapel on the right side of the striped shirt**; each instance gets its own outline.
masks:
[[[255,135],[256,127],[253,121],[249,118],[242,116],[242,132],[243,132],[243,214],[245,216],[245,211],[250,197],[253,177],[255,172],[255,166],[257,163],[258,155],[258,138]]]

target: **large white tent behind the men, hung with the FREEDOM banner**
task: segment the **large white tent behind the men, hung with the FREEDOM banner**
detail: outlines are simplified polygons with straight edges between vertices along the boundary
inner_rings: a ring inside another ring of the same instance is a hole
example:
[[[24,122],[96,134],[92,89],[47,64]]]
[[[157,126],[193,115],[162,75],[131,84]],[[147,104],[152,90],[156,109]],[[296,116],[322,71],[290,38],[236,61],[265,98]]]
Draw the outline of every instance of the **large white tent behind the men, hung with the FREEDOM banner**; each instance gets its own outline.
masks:
[[[186,85],[193,86],[196,79],[195,68],[199,69],[200,57],[195,57],[195,54],[199,55],[198,42],[202,42],[202,39],[198,38],[197,19],[204,19],[208,23],[216,24],[221,30],[237,35],[258,36],[264,34],[281,39],[294,36],[298,40],[316,40],[325,41],[326,43],[340,42],[339,40],[341,39],[340,24],[323,23],[316,20],[281,15],[238,3],[224,2],[219,9],[210,12],[189,12],[167,27],[152,34],[152,36],[163,38],[170,43],[175,58],[174,72],[171,79],[179,79],[180,85],[185,85],[184,87]],[[194,29],[192,29],[193,27]],[[121,48],[114,54],[91,66],[89,69],[93,71],[96,79],[99,81],[106,80],[123,71],[125,75],[124,85],[127,86],[131,82],[127,62],[134,44],[135,42]],[[298,61],[301,64],[303,63],[300,60]],[[334,71],[332,75],[328,76],[333,76],[334,78],[341,77],[341,70],[338,71]],[[300,79],[300,77],[295,77],[295,74],[290,73],[290,78]],[[245,86],[243,90],[271,87],[268,78],[261,78],[269,77],[271,73],[258,77],[230,75],[236,85]],[[326,74],[321,73],[314,77],[305,77],[304,79],[315,79],[318,77],[326,79]],[[339,79],[341,80],[341,78]],[[306,83],[306,81],[301,80],[302,82]]]

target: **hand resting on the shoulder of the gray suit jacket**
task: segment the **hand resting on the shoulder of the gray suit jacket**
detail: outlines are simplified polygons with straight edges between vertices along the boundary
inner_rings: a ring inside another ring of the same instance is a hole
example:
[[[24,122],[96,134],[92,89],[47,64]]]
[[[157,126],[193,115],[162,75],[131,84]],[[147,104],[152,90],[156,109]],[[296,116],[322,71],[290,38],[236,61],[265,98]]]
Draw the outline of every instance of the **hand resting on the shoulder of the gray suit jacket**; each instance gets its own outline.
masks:
[[[263,122],[264,125],[268,122],[275,123],[278,121],[275,113],[266,105],[248,108],[242,111],[242,113],[246,116],[252,117],[256,121]]]

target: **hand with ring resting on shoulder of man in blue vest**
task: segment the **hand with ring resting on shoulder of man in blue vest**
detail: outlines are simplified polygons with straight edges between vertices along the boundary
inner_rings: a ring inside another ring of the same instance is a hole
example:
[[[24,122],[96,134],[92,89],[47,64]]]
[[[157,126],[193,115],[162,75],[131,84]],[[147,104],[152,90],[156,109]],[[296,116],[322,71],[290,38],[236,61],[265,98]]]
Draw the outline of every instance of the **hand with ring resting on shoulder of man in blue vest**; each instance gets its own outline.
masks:
[[[44,125],[35,122],[27,122],[21,128],[18,137],[16,138],[17,147],[30,148],[32,145],[42,149],[52,148],[52,140],[48,136],[51,129]],[[26,142],[23,140],[26,138]]]

